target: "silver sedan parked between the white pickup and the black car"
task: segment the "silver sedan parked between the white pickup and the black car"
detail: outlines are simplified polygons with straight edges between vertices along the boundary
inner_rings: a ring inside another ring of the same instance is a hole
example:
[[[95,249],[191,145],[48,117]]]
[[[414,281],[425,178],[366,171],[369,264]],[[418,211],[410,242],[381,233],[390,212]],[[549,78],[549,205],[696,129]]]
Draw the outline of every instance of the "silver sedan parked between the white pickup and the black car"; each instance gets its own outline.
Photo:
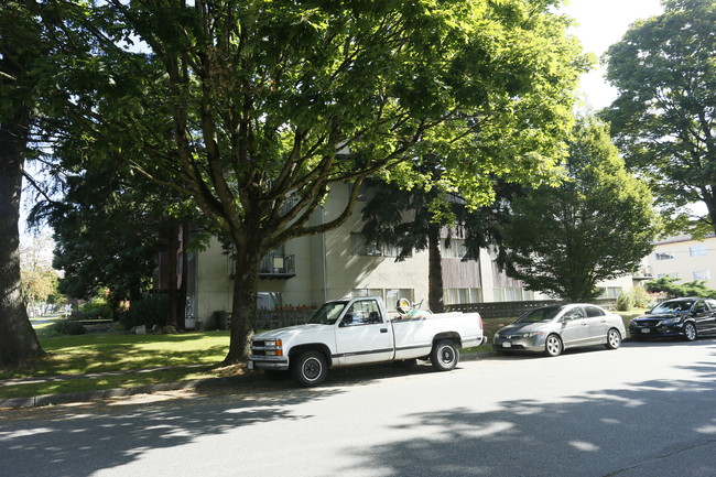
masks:
[[[498,353],[538,351],[558,356],[564,349],[604,345],[617,349],[627,330],[621,316],[586,303],[535,308],[501,328],[492,338]]]

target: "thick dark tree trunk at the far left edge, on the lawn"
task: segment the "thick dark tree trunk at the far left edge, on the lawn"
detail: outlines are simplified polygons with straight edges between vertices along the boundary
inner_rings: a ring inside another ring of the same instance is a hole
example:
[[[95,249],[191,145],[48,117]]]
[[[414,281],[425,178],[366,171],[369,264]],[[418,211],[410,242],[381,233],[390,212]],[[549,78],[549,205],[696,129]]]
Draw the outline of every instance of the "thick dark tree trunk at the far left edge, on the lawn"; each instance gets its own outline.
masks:
[[[30,324],[20,281],[20,196],[30,112],[0,124],[0,367],[45,356]]]

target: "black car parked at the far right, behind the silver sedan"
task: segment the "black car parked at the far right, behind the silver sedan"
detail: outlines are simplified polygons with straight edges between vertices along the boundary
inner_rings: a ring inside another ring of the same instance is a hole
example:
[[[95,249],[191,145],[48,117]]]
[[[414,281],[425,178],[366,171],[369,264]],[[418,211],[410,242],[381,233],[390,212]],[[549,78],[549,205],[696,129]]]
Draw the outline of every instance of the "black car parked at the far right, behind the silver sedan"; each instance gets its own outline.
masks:
[[[633,339],[679,337],[693,342],[701,335],[716,334],[716,300],[674,299],[651,308],[629,323]]]

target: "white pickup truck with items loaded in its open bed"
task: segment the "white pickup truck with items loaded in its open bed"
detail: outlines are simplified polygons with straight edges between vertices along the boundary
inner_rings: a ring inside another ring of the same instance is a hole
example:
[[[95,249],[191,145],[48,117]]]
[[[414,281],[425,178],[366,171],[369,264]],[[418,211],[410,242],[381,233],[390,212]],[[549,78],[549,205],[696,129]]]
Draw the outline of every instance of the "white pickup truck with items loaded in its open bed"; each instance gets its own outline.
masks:
[[[249,369],[290,370],[303,387],[321,384],[328,368],[428,359],[447,371],[458,349],[485,342],[479,313],[403,313],[390,319],[383,301],[327,302],[305,325],[253,336]]]

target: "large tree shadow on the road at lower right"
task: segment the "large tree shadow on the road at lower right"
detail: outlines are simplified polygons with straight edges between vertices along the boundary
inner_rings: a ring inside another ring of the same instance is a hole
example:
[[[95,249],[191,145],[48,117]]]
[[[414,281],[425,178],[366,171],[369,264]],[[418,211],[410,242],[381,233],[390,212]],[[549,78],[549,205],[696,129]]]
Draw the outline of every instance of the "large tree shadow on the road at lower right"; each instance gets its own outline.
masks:
[[[686,346],[709,346],[716,355],[709,343]],[[693,378],[647,380],[558,402],[516,399],[485,412],[470,408],[405,415],[400,429],[411,435],[417,431],[422,437],[354,452],[351,468],[378,463],[380,475],[391,477],[673,476],[680,470],[713,477],[716,364],[695,362],[683,369]],[[558,379],[545,380],[544,386],[558,384]],[[669,444],[674,442],[680,445]],[[669,467],[674,465],[670,459],[680,458],[680,453],[686,459],[686,453],[698,446],[710,451],[686,467]],[[654,474],[659,468],[662,474]],[[337,474],[351,475],[350,468]]]

